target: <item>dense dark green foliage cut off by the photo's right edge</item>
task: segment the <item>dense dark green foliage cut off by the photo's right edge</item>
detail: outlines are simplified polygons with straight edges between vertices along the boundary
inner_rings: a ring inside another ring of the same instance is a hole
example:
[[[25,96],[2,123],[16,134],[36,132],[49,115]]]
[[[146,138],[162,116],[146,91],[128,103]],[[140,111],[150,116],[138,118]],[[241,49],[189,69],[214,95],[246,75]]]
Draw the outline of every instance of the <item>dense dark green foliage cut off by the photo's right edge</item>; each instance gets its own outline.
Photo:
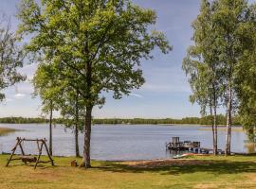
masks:
[[[243,59],[236,66],[236,91],[239,99],[240,121],[248,136],[255,140],[256,127],[256,4],[249,7],[244,31]]]

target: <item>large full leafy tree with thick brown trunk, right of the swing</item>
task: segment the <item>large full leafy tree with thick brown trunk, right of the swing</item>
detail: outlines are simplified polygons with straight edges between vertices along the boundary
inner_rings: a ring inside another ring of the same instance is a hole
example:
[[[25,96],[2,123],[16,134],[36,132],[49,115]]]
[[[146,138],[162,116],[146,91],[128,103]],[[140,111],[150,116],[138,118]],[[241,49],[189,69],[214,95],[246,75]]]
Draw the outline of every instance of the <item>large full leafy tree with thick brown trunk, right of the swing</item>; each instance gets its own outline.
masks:
[[[139,88],[144,83],[141,59],[152,59],[155,46],[164,54],[172,49],[163,33],[148,30],[155,24],[155,11],[130,0],[42,0],[41,5],[23,0],[18,17],[19,34],[32,35],[27,53],[56,69],[54,77],[64,92],[71,87],[80,96],[83,160],[89,167],[91,113],[103,104],[101,93],[113,91],[119,99]]]

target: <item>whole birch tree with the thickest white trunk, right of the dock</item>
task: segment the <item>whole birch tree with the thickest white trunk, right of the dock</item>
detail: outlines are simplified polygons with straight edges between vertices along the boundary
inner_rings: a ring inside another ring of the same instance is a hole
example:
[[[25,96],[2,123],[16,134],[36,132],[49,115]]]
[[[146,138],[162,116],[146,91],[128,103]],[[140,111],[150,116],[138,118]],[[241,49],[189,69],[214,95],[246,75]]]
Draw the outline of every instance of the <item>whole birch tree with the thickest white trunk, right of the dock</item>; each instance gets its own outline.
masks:
[[[227,139],[225,154],[230,154],[232,114],[237,104],[234,80],[236,65],[243,58],[244,45],[242,32],[247,23],[246,0],[217,0],[214,2],[212,24],[217,34],[216,43],[219,46],[219,60],[225,68],[225,107],[227,109]]]

